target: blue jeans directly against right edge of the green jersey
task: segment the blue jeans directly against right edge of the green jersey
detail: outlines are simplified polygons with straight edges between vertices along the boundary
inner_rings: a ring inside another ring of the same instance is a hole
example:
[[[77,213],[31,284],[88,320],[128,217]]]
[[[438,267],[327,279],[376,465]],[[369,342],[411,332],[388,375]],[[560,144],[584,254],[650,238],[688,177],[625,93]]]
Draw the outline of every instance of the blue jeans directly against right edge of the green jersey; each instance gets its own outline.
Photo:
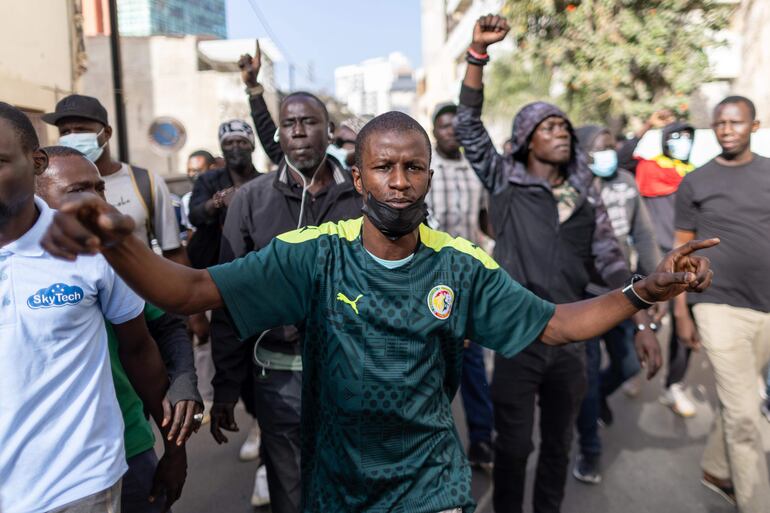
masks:
[[[483,349],[473,342],[463,351],[460,394],[463,398],[470,442],[491,444],[492,397],[489,395]]]

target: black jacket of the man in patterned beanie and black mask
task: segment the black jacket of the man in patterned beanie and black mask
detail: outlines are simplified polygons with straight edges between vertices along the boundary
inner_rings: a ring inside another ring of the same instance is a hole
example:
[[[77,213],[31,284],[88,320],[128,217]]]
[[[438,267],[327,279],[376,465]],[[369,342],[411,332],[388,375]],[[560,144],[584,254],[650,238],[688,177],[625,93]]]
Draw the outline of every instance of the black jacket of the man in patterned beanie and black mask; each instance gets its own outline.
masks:
[[[255,171],[254,177],[259,174]],[[212,169],[195,180],[190,197],[189,219],[196,229],[187,245],[187,256],[196,269],[205,269],[219,262],[219,243],[222,239],[222,226],[225,224],[227,208],[220,208],[210,215],[206,212],[206,202],[216,192],[232,186],[233,180],[226,168]]]

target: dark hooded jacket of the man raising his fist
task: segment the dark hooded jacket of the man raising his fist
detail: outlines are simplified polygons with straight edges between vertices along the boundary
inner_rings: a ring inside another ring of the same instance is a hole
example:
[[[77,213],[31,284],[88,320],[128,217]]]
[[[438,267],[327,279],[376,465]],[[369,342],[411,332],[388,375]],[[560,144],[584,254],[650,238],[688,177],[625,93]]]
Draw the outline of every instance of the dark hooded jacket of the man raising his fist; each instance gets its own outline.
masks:
[[[565,222],[559,222],[550,184],[525,168],[537,125],[551,116],[567,119],[566,115],[543,102],[524,107],[514,122],[512,155],[503,157],[481,122],[482,104],[483,91],[463,86],[455,134],[491,193],[494,256],[503,269],[540,297],[557,303],[584,298],[594,266],[607,284],[620,287],[629,275],[628,266],[575,138],[566,174],[579,197]]]

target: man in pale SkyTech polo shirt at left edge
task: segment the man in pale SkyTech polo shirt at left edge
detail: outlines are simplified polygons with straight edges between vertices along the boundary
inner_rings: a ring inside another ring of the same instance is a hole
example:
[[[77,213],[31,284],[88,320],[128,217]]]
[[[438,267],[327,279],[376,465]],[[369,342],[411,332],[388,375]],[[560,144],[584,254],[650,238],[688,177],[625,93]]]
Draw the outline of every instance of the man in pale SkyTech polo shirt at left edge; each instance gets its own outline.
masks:
[[[0,511],[117,512],[127,467],[104,318],[130,335],[144,303],[104,258],[42,249],[47,163],[29,119],[0,102]],[[157,396],[168,382],[149,356],[128,366],[154,367],[142,386]]]

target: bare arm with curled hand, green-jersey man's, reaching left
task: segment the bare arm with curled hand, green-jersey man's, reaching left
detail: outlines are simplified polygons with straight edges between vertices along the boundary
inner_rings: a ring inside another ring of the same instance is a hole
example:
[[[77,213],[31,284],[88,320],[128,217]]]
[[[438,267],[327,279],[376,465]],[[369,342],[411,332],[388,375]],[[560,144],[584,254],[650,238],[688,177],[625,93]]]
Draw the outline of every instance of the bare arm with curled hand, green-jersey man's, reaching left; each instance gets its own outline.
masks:
[[[62,205],[41,243],[65,260],[101,252],[132,289],[167,312],[189,315],[223,306],[208,271],[159,257],[131,235],[133,228],[130,216],[83,194]]]

